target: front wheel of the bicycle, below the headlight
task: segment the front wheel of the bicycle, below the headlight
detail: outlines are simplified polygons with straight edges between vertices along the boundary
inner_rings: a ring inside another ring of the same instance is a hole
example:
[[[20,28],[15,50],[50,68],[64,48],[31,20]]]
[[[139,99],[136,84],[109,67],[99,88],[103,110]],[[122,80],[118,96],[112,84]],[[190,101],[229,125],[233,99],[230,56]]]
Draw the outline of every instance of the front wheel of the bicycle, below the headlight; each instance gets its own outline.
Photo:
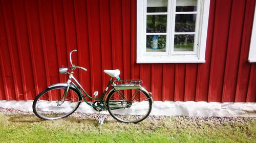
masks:
[[[42,91],[33,102],[35,115],[44,120],[55,120],[71,115],[80,105],[77,90],[68,87],[53,87]]]

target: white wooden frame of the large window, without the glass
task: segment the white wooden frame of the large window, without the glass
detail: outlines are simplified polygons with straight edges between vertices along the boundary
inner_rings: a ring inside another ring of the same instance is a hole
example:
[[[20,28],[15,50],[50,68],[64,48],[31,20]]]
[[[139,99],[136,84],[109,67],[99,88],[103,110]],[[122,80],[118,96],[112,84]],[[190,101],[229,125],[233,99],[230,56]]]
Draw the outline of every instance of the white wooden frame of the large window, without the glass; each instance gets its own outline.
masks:
[[[137,0],[137,63],[205,63],[206,37],[208,28],[209,6],[210,0],[198,0],[196,32],[194,40],[194,51],[173,51],[174,38],[169,38],[168,35],[174,35],[175,14],[186,12],[172,12],[168,14],[166,25],[166,51],[165,52],[146,52],[146,3],[147,0]],[[170,7],[173,8],[170,8]],[[168,13],[170,10],[175,10],[176,1],[168,0]],[[163,13],[165,14],[165,13]],[[169,22],[172,21],[172,22]],[[172,27],[172,28],[170,28]],[[161,35],[163,33],[154,33]],[[183,33],[185,34],[185,33]],[[197,48],[195,48],[197,47]]]

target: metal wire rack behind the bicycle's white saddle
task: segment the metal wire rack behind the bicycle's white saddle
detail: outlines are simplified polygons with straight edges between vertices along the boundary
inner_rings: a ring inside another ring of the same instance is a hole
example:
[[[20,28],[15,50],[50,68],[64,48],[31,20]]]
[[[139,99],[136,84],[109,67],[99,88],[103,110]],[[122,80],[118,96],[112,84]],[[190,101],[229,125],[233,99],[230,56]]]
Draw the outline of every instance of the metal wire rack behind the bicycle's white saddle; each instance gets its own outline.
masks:
[[[115,80],[113,87],[141,87],[142,80]]]

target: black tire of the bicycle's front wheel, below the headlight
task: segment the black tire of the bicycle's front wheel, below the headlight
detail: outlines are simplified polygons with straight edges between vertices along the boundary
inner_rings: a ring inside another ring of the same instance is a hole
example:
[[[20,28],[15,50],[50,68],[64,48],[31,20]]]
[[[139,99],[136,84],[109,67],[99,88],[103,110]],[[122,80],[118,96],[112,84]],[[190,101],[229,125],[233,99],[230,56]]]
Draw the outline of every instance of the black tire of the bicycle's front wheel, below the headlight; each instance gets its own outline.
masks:
[[[33,107],[33,112],[34,112],[34,114],[35,114],[38,118],[43,119],[43,120],[56,120],[56,119],[66,118],[66,117],[70,116],[74,111],[77,110],[77,108],[78,108],[79,105],[81,104],[82,98],[81,98],[80,93],[79,93],[76,89],[70,87],[69,89],[70,89],[70,90],[73,90],[74,92],[76,92],[76,94],[78,95],[78,98],[79,98],[78,104],[77,104],[77,106],[74,108],[74,110],[73,110],[72,112],[67,113],[66,115],[62,116],[61,118],[54,118],[54,119],[47,119],[47,118],[44,118],[44,117],[40,116],[40,115],[37,113],[37,111],[36,111],[36,103],[37,103],[38,99],[39,99],[42,95],[44,95],[45,93],[47,93],[48,91],[51,91],[51,90],[54,90],[54,89],[59,89],[59,88],[67,88],[67,87],[66,87],[66,86],[57,86],[57,87],[47,88],[46,90],[42,91],[41,93],[39,93],[39,94],[36,96],[36,98],[35,98],[34,101],[33,101],[33,106],[32,106],[32,107]]]

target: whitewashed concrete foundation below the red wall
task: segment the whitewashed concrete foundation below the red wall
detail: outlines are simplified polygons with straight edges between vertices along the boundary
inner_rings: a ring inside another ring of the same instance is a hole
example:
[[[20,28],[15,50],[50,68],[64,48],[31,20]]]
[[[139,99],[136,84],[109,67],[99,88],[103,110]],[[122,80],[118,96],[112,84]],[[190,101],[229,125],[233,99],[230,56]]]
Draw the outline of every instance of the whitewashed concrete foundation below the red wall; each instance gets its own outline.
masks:
[[[0,100],[0,107],[33,111],[33,101]],[[95,113],[91,106],[82,103],[77,112]],[[155,101],[150,115],[155,116],[203,116],[203,117],[256,117],[255,102],[173,102]]]

